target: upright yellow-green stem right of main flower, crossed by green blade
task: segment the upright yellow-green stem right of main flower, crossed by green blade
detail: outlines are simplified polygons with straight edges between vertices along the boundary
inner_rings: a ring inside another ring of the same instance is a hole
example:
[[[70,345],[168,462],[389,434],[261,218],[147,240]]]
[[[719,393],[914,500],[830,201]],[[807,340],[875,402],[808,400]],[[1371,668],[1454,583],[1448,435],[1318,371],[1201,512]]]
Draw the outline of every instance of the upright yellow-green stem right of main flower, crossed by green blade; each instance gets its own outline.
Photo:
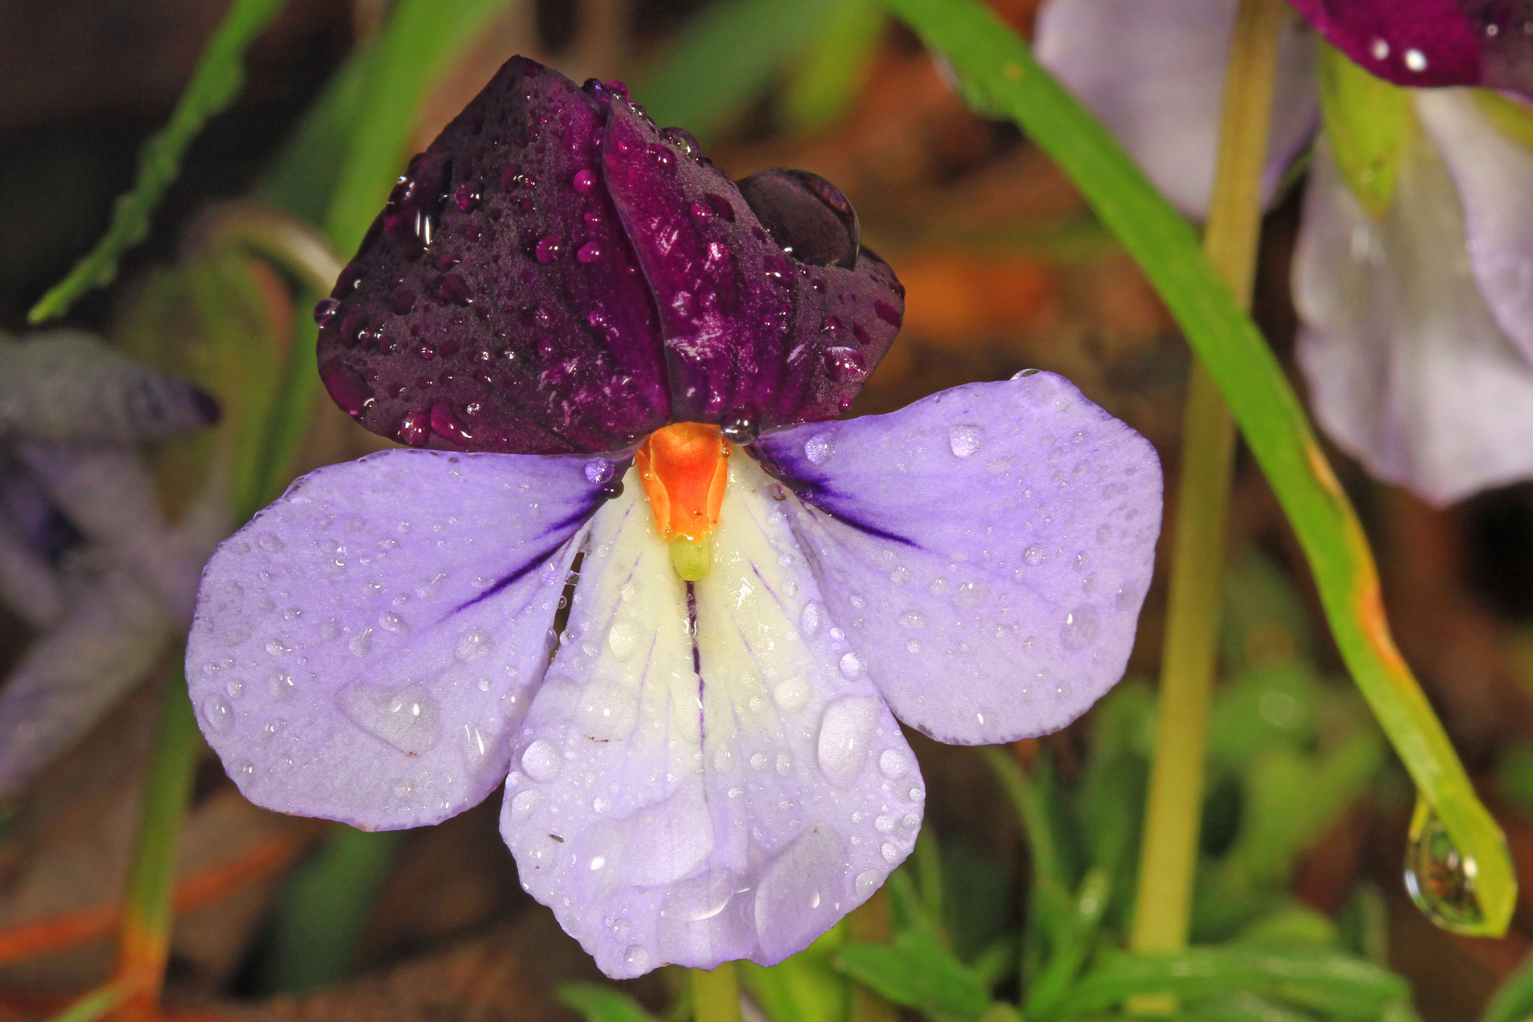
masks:
[[[1203,250],[1242,306],[1251,302],[1262,227],[1262,169],[1283,17],[1282,0],[1240,2],[1225,78],[1219,162]],[[1130,935],[1130,947],[1136,952],[1170,952],[1187,944],[1234,440],[1229,409],[1203,363],[1197,362],[1182,418],[1182,473],[1156,748]],[[1144,1002],[1134,1007],[1148,1013],[1170,1011],[1174,1005]]]

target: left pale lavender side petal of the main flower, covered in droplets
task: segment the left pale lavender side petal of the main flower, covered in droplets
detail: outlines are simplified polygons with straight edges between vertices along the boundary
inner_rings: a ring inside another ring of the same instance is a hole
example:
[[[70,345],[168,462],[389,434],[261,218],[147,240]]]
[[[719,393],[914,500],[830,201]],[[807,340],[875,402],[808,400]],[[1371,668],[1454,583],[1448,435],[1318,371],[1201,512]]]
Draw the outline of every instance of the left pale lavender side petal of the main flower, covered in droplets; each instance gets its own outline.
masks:
[[[604,460],[388,450],[313,472],[208,561],[198,719],[251,801],[435,823],[507,769]]]

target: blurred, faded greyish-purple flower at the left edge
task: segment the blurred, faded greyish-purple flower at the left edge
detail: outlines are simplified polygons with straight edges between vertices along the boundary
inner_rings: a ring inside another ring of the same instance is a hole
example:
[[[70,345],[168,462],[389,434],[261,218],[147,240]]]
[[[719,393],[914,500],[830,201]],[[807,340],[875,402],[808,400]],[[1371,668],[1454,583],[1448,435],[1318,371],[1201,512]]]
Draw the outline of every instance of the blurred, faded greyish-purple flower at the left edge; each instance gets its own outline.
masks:
[[[190,619],[216,526],[166,526],[136,444],[216,418],[204,392],[87,334],[0,339],[0,602],[38,631],[0,686],[0,800]]]

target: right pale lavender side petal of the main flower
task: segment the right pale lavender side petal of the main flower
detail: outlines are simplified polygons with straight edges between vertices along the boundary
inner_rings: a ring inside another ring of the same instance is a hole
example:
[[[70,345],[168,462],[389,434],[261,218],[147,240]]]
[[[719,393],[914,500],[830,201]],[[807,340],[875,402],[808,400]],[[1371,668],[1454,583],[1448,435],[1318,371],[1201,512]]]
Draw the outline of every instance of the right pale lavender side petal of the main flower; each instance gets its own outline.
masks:
[[[756,443],[846,631],[904,723],[980,745],[1056,731],[1124,673],[1160,530],[1150,443],[1052,372]]]

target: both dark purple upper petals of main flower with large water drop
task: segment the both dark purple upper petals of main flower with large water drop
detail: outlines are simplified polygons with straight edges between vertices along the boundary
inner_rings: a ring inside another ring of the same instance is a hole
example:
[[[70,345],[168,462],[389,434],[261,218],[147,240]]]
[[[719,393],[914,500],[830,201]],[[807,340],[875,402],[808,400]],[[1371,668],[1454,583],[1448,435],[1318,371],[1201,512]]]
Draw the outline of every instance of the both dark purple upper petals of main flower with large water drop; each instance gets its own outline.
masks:
[[[518,454],[834,418],[901,316],[834,185],[736,185],[621,83],[521,57],[411,162],[316,310],[320,377],[363,426]]]

